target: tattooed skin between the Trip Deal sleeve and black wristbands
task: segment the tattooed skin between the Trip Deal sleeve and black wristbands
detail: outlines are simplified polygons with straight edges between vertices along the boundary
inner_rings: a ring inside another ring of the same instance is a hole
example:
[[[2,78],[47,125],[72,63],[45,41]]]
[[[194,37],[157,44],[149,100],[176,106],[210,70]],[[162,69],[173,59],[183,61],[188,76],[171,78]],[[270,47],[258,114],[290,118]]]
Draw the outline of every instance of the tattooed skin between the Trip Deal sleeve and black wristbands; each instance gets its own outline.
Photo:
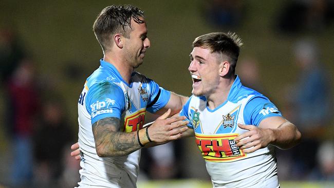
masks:
[[[130,154],[140,148],[136,133],[120,132],[120,120],[104,118],[92,125],[97,151],[103,157]]]

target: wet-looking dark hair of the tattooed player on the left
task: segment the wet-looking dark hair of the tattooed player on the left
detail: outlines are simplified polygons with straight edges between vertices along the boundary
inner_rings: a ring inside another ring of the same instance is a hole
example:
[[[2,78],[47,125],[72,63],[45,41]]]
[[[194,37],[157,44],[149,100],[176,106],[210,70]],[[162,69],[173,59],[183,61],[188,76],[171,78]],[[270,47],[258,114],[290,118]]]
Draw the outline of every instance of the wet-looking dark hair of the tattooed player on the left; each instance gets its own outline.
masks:
[[[144,17],[144,12],[133,5],[105,7],[97,16],[93,25],[95,36],[102,49],[107,50],[110,47],[113,34],[121,33],[128,38],[132,18],[136,23],[142,24],[144,21],[140,17]]]

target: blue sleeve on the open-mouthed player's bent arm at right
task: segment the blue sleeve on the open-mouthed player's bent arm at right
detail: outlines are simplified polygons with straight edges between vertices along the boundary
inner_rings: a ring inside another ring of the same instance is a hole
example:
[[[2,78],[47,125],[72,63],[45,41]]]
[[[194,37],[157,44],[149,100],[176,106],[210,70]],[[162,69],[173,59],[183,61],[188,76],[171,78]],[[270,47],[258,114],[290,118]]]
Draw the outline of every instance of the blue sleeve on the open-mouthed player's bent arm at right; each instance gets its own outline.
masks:
[[[259,123],[269,117],[280,116],[277,107],[264,97],[254,97],[245,106],[244,120],[247,125],[258,126]]]

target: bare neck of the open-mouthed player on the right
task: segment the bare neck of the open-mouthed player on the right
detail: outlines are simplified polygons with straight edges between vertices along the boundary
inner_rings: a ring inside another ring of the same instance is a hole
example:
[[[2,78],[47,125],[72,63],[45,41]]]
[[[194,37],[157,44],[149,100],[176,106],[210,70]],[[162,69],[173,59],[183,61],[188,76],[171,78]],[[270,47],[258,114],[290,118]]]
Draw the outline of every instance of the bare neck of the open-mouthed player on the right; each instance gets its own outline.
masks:
[[[224,103],[227,100],[227,97],[229,96],[232,84],[235,80],[234,76],[232,78],[221,78],[217,89],[215,92],[210,93],[209,96],[206,96],[207,98],[207,105],[210,109],[215,109],[222,103]]]

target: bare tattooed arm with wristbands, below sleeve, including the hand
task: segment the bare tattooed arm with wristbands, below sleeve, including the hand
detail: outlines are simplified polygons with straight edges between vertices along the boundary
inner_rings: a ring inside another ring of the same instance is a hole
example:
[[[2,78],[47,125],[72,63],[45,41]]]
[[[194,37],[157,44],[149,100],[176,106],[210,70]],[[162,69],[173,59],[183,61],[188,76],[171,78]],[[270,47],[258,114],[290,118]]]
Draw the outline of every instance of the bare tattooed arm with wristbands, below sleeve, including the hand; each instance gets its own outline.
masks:
[[[182,133],[188,129],[184,127],[188,123],[187,121],[183,121],[185,117],[166,119],[170,116],[170,113],[171,110],[169,109],[147,130],[152,142],[166,142],[179,139],[182,137]],[[142,145],[150,142],[146,136],[147,128],[145,127],[137,132],[125,133],[119,131],[120,120],[118,118],[103,118],[95,122],[92,125],[92,131],[98,156],[112,157],[133,153],[141,148],[139,140]]]

